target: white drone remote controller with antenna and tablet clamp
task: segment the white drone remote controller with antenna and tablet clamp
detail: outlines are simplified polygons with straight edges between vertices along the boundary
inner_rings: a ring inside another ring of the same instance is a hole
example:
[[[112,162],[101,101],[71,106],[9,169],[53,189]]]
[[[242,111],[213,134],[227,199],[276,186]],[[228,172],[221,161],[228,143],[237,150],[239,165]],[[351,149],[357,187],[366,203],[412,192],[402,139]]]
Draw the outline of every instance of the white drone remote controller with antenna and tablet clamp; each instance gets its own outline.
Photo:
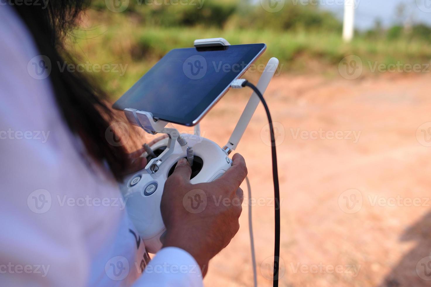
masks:
[[[229,45],[223,38],[202,39],[195,41],[195,47]],[[266,65],[256,87],[265,93],[269,82],[278,67],[278,59],[271,58]],[[239,77],[239,76],[238,76]],[[154,120],[149,112],[127,108],[124,110],[128,121],[150,134],[166,133],[168,138],[147,147],[142,156],[150,158],[147,166],[131,174],[120,186],[126,199],[126,208],[137,232],[144,240],[147,251],[156,253],[162,248],[163,224],[160,202],[163,188],[175,165],[181,158],[187,158],[187,150],[193,148],[192,176],[190,182],[205,183],[221,177],[232,165],[229,154],[240,141],[260,100],[253,93],[235,127],[228,143],[221,148],[215,142],[201,137],[197,129],[195,134],[179,134],[175,128],[166,128],[162,120]],[[188,147],[191,148],[188,148]]]

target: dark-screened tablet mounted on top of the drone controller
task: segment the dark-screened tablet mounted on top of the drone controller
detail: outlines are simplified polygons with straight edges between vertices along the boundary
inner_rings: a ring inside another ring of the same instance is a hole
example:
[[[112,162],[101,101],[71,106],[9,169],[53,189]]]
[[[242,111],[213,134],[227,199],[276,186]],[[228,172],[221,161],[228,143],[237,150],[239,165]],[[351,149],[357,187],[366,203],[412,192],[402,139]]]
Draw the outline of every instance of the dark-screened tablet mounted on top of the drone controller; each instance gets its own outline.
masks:
[[[265,44],[245,44],[171,50],[113,108],[194,126],[265,49]]]

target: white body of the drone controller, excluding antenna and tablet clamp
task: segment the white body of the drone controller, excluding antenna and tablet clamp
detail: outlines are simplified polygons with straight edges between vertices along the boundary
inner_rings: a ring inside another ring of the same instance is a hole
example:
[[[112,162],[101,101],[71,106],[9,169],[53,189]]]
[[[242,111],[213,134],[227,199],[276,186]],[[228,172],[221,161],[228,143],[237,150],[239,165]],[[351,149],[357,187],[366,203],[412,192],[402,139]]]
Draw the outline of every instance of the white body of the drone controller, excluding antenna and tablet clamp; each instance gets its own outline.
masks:
[[[194,156],[200,161],[201,169],[190,180],[192,184],[211,182],[231,167],[232,160],[215,142],[193,134],[181,136],[187,140],[187,145],[193,146]],[[166,147],[167,142],[168,139],[162,139],[151,148],[156,151]],[[187,145],[175,142],[172,154],[162,162],[159,170],[155,173],[140,170],[126,177],[120,185],[129,217],[150,253],[156,253],[162,247],[160,237],[166,231],[160,212],[163,189],[174,165],[186,157]]]

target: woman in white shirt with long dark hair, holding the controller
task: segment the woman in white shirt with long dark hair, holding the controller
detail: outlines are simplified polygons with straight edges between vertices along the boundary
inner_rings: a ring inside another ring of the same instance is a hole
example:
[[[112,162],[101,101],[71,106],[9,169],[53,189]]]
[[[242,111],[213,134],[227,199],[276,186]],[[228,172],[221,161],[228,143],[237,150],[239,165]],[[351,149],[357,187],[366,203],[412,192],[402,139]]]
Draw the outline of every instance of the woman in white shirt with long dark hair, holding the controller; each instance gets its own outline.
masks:
[[[235,155],[223,177],[196,185],[187,161],[178,162],[162,197],[164,246],[150,260],[118,188],[146,162],[107,141],[114,117],[100,89],[56,64],[68,59],[62,40],[83,8],[79,0],[0,8],[0,285],[202,286],[241,213],[212,199],[242,202],[244,158]],[[199,214],[182,203],[192,189],[208,199]]]

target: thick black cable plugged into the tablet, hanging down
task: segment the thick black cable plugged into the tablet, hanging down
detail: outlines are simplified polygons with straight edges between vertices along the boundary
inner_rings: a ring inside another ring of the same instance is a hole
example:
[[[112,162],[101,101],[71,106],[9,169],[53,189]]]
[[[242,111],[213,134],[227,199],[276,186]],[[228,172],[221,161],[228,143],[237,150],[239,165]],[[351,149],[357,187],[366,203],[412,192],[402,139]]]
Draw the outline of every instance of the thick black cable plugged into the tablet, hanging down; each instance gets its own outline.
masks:
[[[272,154],[272,180],[274,181],[274,200],[275,200],[275,234],[274,234],[274,276],[273,286],[278,286],[278,271],[280,265],[280,186],[278,183],[278,167],[277,167],[277,151],[275,148],[274,127],[272,125],[271,114],[269,113],[268,105],[263,98],[262,93],[252,83],[245,81],[242,86],[250,87],[257,94],[265,108],[266,116],[268,117],[269,130],[271,134],[271,154]]]

